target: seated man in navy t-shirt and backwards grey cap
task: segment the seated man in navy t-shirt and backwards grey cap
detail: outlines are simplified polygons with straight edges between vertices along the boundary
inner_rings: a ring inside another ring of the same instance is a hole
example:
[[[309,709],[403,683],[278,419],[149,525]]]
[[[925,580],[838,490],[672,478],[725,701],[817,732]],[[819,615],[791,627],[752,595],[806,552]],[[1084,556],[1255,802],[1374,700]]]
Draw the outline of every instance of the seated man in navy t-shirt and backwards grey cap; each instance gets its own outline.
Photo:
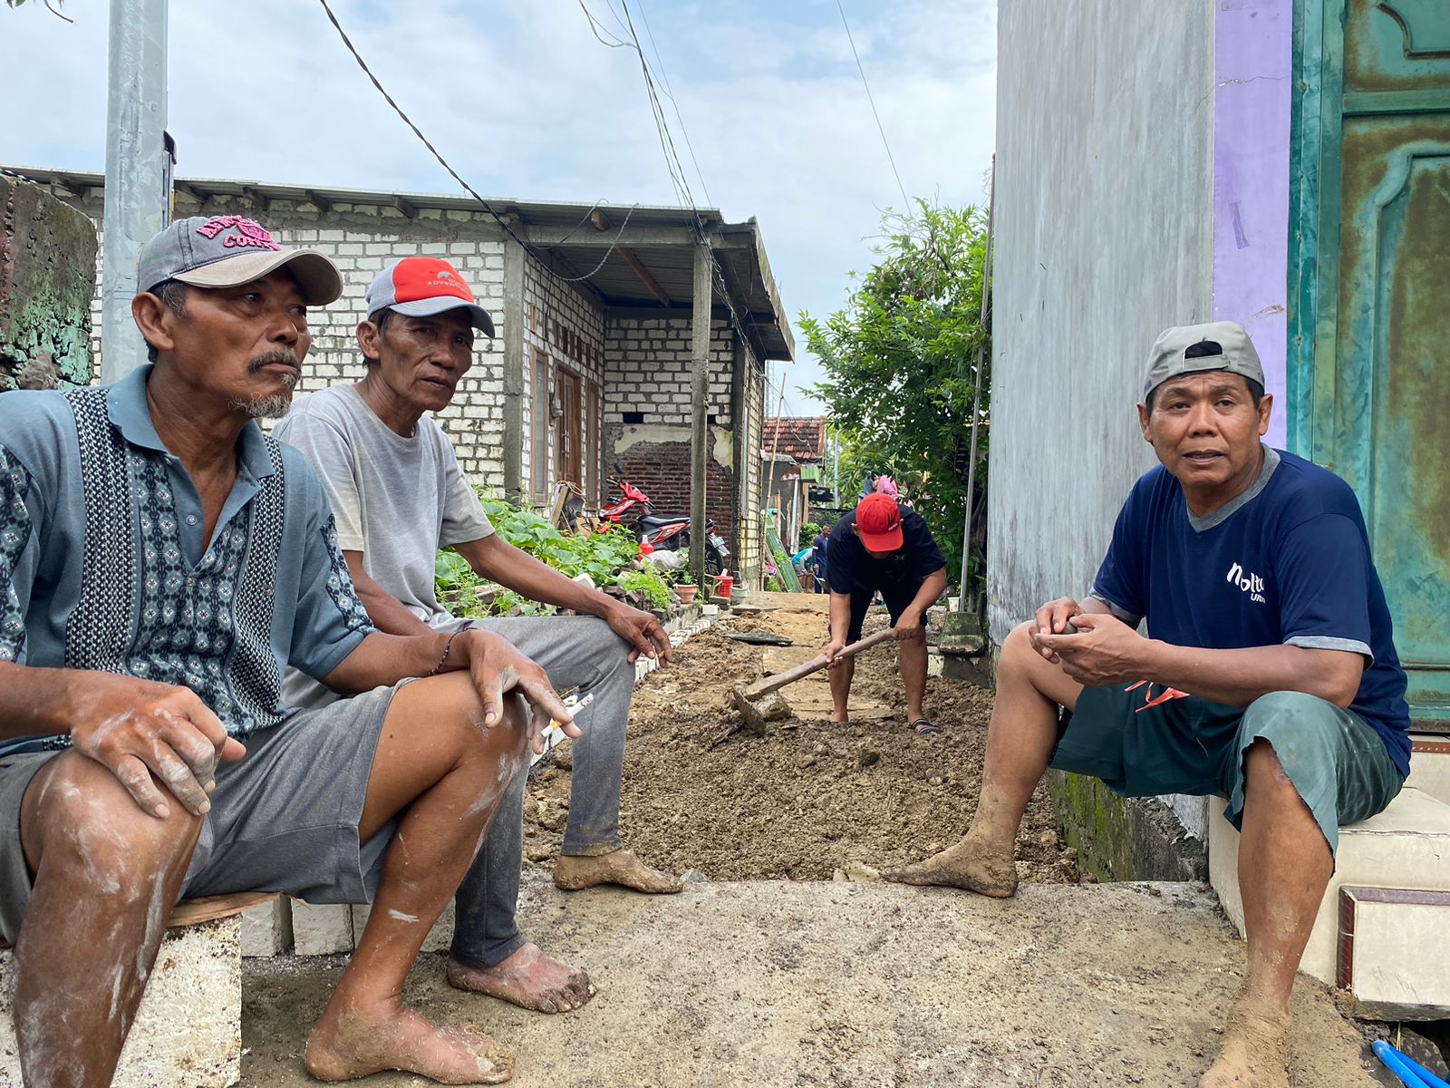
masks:
[[[1260,442],[1270,408],[1238,325],[1159,337],[1138,422],[1161,466],[1128,495],[1088,599],[1043,605],[1003,643],[972,830],[886,873],[1012,895],[1016,828],[1048,766],[1125,796],[1228,798],[1248,963],[1201,1088],[1288,1085],[1289,994],[1338,827],[1382,811],[1409,772],[1405,673],[1359,503]]]

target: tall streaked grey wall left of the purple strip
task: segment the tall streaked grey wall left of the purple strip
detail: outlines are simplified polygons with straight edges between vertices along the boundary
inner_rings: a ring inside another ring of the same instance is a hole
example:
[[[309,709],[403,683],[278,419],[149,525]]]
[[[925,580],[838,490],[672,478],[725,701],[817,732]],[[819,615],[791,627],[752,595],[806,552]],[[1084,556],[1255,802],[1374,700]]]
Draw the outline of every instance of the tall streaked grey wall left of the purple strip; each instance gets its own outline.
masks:
[[[1153,463],[1134,403],[1167,325],[1208,321],[1214,6],[1014,0],[998,25],[987,612],[1083,593]]]

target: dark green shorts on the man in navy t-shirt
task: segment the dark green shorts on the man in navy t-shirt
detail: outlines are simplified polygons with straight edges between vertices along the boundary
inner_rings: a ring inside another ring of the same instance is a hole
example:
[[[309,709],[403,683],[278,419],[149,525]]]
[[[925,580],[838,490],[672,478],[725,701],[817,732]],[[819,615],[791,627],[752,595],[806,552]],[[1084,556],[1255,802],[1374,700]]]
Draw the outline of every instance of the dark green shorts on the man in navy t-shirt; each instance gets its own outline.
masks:
[[[1385,741],[1351,711],[1302,692],[1270,692],[1247,708],[1163,685],[1085,688],[1063,711],[1050,766],[1102,779],[1122,796],[1193,794],[1228,798],[1243,828],[1244,753],[1266,740],[1314,814],[1330,850],[1340,825],[1367,820],[1395,799],[1404,778]]]

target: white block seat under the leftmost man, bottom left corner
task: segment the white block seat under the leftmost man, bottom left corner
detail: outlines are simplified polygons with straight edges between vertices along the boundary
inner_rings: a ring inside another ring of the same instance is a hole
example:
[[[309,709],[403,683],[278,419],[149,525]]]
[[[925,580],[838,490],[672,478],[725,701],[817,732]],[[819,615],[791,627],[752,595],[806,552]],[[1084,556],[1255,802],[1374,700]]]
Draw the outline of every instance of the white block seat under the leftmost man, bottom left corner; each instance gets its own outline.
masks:
[[[242,1075],[239,917],[168,930],[112,1088],[228,1088]],[[20,1084],[14,959],[0,952],[0,1084]]]

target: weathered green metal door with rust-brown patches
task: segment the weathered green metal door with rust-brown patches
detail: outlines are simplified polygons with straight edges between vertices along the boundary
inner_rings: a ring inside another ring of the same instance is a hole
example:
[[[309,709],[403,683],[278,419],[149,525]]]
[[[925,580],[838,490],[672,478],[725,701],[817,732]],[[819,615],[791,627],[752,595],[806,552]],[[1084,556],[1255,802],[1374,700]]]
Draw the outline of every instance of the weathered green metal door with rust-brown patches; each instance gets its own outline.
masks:
[[[1450,724],[1450,0],[1302,0],[1290,445],[1359,493],[1409,675]]]

